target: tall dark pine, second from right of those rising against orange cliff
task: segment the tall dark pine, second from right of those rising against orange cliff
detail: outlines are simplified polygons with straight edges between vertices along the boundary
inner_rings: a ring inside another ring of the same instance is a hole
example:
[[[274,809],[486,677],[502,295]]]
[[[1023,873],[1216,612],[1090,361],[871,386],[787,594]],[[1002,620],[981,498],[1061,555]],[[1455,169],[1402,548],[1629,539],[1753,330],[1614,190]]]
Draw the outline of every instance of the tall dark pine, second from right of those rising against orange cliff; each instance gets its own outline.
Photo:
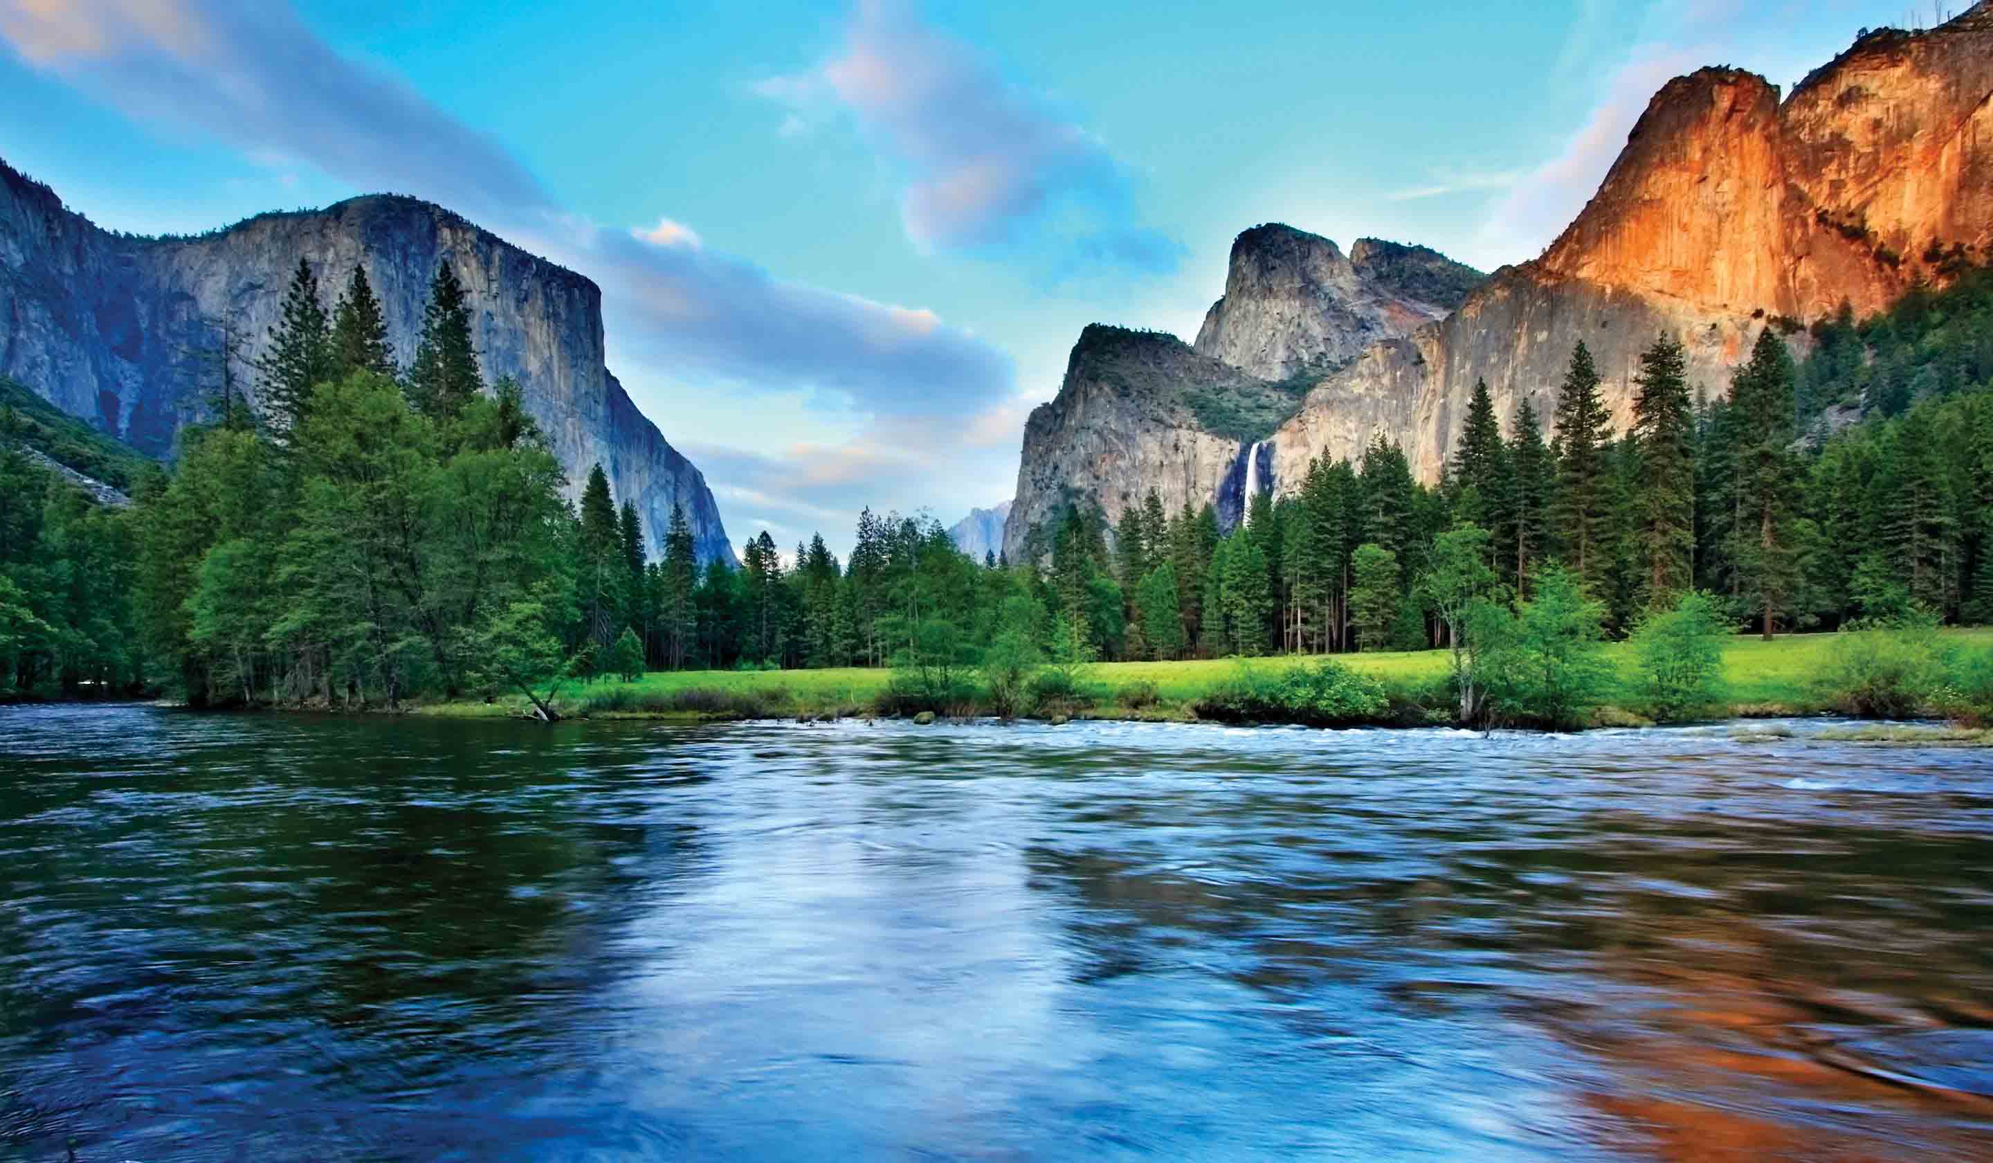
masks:
[[[1696,417],[1688,401],[1682,345],[1662,335],[1640,355],[1632,403],[1638,449],[1636,521],[1646,561],[1648,608],[1672,608],[1694,584],[1696,553]]]

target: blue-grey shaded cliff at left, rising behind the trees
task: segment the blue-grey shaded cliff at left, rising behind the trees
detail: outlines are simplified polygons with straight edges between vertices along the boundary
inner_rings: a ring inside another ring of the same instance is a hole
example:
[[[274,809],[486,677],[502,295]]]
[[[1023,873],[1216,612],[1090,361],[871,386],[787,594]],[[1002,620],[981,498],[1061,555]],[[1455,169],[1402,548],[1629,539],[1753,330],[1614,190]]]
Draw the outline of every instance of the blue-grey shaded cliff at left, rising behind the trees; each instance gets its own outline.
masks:
[[[520,383],[570,495],[580,497],[600,461],[618,503],[636,503],[654,553],[678,503],[700,559],[733,561],[706,479],[602,361],[602,291],[427,201],[355,197],[199,237],[145,239],[98,229],[0,164],[0,373],[167,455],[179,425],[201,415],[221,321],[243,337],[237,375],[253,403],[249,361],[299,257],[317,271],[327,307],[353,265],[365,267],[403,363],[415,355],[428,281],[448,261],[470,301],[486,381]]]

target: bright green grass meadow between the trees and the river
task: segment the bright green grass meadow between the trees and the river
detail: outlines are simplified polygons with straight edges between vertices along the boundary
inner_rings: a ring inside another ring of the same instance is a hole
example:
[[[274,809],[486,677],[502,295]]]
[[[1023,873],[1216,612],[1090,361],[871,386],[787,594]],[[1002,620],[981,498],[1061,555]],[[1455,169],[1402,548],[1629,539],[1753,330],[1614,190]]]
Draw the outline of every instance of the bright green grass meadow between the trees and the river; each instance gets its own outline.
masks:
[[[1772,642],[1740,636],[1724,646],[1724,698],[1732,714],[1812,714],[1826,710],[1818,676],[1828,668],[1836,634],[1786,634]],[[1945,630],[1957,648],[1993,648],[1993,628]],[[1638,706],[1638,672],[1624,642],[1604,646],[1620,674],[1614,706]],[[1447,674],[1445,650],[1395,654],[1337,654],[1337,660],[1375,676],[1395,690],[1437,684]],[[1088,714],[1102,718],[1192,718],[1198,698],[1240,674],[1276,674],[1305,666],[1313,656],[1210,658],[1188,662],[1096,662],[1084,668],[1082,688],[1092,696]],[[644,718],[789,718],[821,714],[871,714],[893,674],[873,668],[837,670],[676,670],[652,672],[636,682],[570,682],[556,696],[564,714]],[[1154,686],[1152,698],[1146,690]],[[496,702],[444,702],[430,714],[524,714],[520,696]]]

